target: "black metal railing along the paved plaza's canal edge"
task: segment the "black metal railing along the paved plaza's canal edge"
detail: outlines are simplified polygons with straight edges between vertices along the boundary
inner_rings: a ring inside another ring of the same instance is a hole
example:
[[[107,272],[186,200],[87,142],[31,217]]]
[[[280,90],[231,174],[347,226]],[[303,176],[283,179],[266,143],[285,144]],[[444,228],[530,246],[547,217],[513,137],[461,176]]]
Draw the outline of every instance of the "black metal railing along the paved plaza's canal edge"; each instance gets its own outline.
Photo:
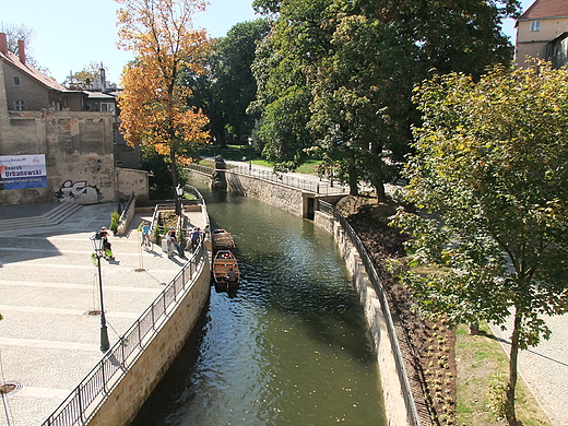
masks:
[[[140,316],[134,324],[110,347],[104,358],[79,383],[42,426],[72,426],[86,424],[103,404],[111,387],[120,380],[150,344],[171,310],[194,283],[201,272],[206,251],[200,242],[191,258]],[[119,375],[119,376],[117,376]]]

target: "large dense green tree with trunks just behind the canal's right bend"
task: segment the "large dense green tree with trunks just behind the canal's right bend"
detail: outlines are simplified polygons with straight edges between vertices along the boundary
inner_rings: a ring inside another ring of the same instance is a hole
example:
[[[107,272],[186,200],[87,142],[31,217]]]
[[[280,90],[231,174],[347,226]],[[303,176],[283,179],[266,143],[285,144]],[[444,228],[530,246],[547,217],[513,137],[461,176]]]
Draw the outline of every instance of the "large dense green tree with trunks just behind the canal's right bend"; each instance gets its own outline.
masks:
[[[393,167],[383,152],[404,150],[410,137],[413,48],[372,17],[340,13],[334,26],[313,83],[310,127],[324,167],[347,181],[352,194],[365,180],[384,201]]]

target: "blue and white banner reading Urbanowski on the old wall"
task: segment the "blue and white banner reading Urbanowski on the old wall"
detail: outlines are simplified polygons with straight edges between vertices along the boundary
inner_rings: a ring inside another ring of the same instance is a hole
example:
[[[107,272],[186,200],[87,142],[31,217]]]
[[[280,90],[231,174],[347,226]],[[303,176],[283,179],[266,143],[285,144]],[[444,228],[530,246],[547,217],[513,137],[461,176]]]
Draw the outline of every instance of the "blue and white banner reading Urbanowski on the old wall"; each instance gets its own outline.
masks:
[[[0,190],[47,187],[46,156],[0,155]]]

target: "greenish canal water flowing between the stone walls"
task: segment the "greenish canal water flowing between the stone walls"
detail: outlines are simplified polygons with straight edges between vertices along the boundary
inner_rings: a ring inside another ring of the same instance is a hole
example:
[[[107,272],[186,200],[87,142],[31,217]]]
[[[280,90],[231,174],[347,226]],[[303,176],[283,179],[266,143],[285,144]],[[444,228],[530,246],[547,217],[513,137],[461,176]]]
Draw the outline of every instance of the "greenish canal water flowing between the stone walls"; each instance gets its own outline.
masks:
[[[330,234],[258,200],[204,196],[242,275],[212,289],[131,426],[387,425],[363,310]]]

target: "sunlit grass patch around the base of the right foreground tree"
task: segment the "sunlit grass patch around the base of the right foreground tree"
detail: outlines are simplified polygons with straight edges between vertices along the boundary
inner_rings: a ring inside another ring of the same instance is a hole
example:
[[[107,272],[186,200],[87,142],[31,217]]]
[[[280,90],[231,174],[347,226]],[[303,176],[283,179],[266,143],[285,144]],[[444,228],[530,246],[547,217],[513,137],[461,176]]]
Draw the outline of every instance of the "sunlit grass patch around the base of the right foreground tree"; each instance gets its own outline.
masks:
[[[487,324],[481,324],[481,334],[469,335],[465,326],[455,331],[458,365],[457,424],[468,426],[501,426],[489,410],[489,382],[495,377],[507,380],[509,358]],[[549,426],[546,415],[519,377],[517,383],[517,418],[524,426]]]

